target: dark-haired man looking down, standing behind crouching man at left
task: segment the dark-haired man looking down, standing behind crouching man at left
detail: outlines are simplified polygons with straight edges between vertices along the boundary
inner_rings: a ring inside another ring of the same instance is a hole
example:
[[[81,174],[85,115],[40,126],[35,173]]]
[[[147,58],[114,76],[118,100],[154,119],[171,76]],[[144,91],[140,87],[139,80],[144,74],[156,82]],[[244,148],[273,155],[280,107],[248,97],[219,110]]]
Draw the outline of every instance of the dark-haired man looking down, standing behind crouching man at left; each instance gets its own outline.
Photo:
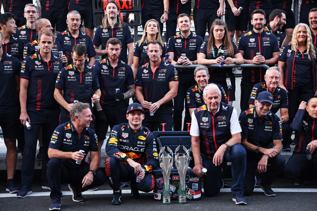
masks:
[[[93,110],[91,101],[99,104],[100,89],[95,68],[86,65],[87,48],[82,44],[73,47],[71,53],[73,62],[61,69],[55,83],[55,100],[63,107],[59,117],[59,124],[70,121],[70,109],[74,105],[74,100],[89,103]],[[61,92],[64,92],[64,95]],[[92,95],[92,92],[94,93]],[[94,128],[94,122],[90,123]]]

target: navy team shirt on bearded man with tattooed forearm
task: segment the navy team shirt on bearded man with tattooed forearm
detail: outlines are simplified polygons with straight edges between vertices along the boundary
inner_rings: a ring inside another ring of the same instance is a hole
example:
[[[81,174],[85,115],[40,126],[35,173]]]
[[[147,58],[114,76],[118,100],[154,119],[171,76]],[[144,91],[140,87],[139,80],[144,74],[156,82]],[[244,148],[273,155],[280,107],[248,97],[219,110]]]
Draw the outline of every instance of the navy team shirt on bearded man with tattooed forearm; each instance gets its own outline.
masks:
[[[125,93],[128,86],[133,85],[132,68],[119,59],[118,66],[114,69],[109,63],[108,57],[95,64],[98,81],[100,84],[100,105],[107,111],[126,111],[129,99],[116,101],[114,97],[115,89]]]

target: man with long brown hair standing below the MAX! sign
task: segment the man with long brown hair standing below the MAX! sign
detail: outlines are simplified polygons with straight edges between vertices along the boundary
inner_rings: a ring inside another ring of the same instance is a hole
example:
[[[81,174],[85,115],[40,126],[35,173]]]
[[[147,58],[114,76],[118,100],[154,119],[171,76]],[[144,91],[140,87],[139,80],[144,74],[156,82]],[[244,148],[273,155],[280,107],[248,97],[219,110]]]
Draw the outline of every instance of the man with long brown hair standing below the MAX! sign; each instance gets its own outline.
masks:
[[[105,59],[107,57],[107,41],[110,38],[118,38],[121,41],[120,59],[131,66],[134,39],[130,27],[121,19],[120,8],[114,1],[109,1],[106,4],[104,12],[102,25],[97,27],[93,40],[97,56],[101,55],[101,59]],[[99,49],[100,45],[101,50]],[[127,50],[129,51],[128,59],[126,58]]]

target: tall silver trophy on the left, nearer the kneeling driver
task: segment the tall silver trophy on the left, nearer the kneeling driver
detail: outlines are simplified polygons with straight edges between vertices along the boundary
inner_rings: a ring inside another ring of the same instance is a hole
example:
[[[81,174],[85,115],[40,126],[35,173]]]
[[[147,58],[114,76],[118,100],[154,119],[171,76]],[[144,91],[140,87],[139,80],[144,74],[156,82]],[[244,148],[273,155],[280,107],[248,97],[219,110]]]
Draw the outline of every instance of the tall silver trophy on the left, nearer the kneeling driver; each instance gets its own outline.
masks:
[[[170,174],[173,167],[173,152],[168,146],[166,148],[171,155],[165,152],[165,146],[159,152],[159,161],[164,178],[162,204],[171,204]]]

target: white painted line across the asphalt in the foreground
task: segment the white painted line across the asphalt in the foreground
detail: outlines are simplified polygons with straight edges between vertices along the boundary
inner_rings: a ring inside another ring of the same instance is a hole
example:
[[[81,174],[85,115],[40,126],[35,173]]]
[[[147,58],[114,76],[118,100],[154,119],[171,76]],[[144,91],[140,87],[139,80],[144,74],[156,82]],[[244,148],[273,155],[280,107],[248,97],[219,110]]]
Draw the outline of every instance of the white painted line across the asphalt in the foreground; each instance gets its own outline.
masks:
[[[275,192],[297,192],[297,193],[316,193],[317,189],[314,188],[272,188]],[[202,189],[204,192],[204,189]],[[231,192],[230,188],[223,188],[220,190],[220,192]],[[255,188],[254,192],[263,192],[261,188]],[[96,191],[85,191],[83,192],[83,195],[101,195],[101,194],[112,194],[112,190],[96,190]],[[123,194],[130,194],[131,190],[122,190]],[[140,193],[144,193],[141,192]],[[49,196],[50,192],[33,192],[29,196]],[[153,192],[150,192],[150,194],[153,194]],[[63,191],[63,195],[72,195],[70,191]],[[10,193],[1,193],[0,198],[4,197],[16,197],[16,194],[10,194]]]

